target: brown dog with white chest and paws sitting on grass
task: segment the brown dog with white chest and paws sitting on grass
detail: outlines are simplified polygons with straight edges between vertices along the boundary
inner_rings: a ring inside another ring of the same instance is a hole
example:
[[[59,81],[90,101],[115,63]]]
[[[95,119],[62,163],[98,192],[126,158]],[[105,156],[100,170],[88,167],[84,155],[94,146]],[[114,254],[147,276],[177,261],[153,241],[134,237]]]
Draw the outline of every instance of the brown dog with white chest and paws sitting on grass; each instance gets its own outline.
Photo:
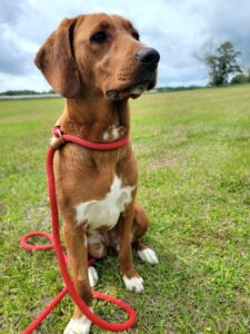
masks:
[[[64,19],[38,51],[36,65],[67,98],[63,130],[108,143],[129,134],[128,99],[154,87],[159,58],[139,41],[130,21],[101,13]],[[54,174],[70,266],[83,301],[91,306],[98,279],[96,269],[88,269],[88,254],[101,258],[109,247],[118,253],[126,287],[141,292],[131,245],[142,261],[157,264],[158,258],[141,242],[148,219],[134,203],[138,171],[131,144],[109,151],[67,144],[56,154]],[[64,333],[86,334],[90,325],[77,308]]]

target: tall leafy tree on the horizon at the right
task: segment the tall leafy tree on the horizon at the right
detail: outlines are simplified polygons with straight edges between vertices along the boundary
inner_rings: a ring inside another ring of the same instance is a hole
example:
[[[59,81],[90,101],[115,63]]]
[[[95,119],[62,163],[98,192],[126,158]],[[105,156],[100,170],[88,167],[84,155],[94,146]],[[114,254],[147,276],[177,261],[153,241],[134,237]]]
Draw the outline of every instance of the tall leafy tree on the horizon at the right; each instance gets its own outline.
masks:
[[[230,41],[226,41],[213,50],[207,51],[201,59],[208,67],[209,84],[211,86],[227,85],[230,75],[242,72],[238,63],[239,56],[240,52],[234,50]]]

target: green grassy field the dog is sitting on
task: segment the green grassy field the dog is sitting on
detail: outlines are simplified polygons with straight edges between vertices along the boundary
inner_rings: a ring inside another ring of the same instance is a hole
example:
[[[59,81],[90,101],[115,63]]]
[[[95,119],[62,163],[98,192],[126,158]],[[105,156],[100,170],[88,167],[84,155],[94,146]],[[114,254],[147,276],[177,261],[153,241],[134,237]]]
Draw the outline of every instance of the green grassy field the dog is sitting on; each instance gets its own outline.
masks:
[[[1,334],[21,333],[62,287],[53,252],[19,246],[28,232],[50,232],[44,156],[62,106],[0,101]],[[131,106],[146,240],[160,264],[134,255],[146,281],[136,295],[109,257],[97,264],[97,289],[137,310],[128,333],[250,333],[250,86],[146,95]],[[72,307],[64,298],[37,333],[62,333]],[[123,318],[106,303],[94,310]]]

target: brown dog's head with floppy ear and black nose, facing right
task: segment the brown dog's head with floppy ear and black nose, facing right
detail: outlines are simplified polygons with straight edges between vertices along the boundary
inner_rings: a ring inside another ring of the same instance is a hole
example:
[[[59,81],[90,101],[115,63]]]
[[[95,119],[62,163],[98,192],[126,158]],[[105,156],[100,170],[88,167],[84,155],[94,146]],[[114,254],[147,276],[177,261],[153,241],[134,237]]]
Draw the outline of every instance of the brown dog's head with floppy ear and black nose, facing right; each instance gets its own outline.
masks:
[[[157,50],[140,42],[130,21],[101,13],[64,19],[34,62],[67,98],[102,94],[123,99],[154,87],[159,59]]]

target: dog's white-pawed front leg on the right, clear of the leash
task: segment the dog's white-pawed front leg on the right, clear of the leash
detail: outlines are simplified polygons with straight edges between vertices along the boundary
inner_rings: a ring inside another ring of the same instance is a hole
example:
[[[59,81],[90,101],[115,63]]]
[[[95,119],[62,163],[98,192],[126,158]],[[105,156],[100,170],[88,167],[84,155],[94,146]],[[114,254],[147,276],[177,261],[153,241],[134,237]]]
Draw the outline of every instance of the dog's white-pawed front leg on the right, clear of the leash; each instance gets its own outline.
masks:
[[[143,279],[133,266],[131,235],[134,209],[133,203],[121,214],[118,224],[119,265],[126,287],[140,293],[143,289]]]

